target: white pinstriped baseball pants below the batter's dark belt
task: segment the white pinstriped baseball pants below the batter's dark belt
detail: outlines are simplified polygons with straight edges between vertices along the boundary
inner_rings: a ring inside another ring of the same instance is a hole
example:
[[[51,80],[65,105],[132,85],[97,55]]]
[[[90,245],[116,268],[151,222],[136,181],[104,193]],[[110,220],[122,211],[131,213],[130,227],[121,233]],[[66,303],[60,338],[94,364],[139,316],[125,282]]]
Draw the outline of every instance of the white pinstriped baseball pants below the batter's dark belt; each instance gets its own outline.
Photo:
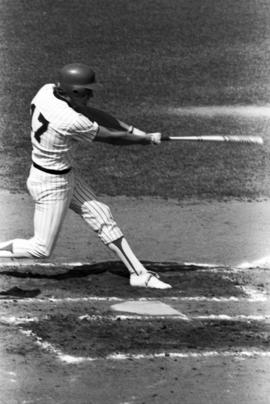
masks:
[[[73,171],[55,175],[32,166],[27,187],[35,202],[34,236],[28,240],[15,239],[15,254],[48,257],[55,247],[69,208],[86,221],[104,244],[123,236],[110,208],[99,202],[83,181],[75,180]]]

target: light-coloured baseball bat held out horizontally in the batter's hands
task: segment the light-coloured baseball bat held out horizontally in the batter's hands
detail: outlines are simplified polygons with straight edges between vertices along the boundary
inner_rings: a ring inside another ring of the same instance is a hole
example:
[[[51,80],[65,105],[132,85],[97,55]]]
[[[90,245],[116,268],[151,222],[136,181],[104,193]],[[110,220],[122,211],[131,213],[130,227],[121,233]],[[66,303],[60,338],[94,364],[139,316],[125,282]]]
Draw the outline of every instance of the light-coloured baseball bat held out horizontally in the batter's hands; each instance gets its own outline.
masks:
[[[168,136],[162,140],[186,140],[198,142],[237,142],[263,144],[260,136],[237,136],[237,135],[202,135],[202,136]]]

